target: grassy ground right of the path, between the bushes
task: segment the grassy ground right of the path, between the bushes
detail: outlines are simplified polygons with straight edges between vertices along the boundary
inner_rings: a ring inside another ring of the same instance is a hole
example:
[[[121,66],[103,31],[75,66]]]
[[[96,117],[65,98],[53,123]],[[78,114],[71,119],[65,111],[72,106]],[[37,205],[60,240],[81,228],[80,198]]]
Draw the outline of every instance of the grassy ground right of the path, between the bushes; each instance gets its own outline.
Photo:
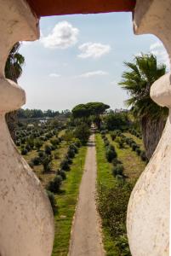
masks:
[[[128,137],[131,135],[128,134]],[[140,159],[131,148],[127,145],[124,148],[119,148],[118,144],[111,141],[111,136],[106,135],[111,144],[113,144],[117,151],[117,159],[123,163],[124,174],[127,176],[126,181],[129,183],[135,183],[140,173],[145,169],[145,162]],[[108,190],[115,187],[117,179],[111,174],[111,166],[105,158],[105,144],[100,134],[96,134],[96,159],[97,159],[97,185],[100,193],[101,189]],[[142,142],[140,142],[142,143]],[[103,191],[102,191],[103,192]],[[106,220],[102,219],[103,223],[103,242],[105,247],[105,253],[107,256],[122,256],[117,248],[116,237],[111,236],[110,230],[104,224]]]

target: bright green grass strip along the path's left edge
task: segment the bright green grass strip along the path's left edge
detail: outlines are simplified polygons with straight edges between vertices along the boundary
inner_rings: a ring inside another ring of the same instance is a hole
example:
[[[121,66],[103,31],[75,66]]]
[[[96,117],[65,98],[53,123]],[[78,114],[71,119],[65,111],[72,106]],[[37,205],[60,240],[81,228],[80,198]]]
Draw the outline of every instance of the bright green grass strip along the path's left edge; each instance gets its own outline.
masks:
[[[54,216],[55,235],[52,256],[66,256],[68,253],[72,218],[77,205],[86,152],[87,147],[79,149],[73,159],[71,171],[67,172],[66,181],[62,183],[60,195],[55,195],[58,212]]]

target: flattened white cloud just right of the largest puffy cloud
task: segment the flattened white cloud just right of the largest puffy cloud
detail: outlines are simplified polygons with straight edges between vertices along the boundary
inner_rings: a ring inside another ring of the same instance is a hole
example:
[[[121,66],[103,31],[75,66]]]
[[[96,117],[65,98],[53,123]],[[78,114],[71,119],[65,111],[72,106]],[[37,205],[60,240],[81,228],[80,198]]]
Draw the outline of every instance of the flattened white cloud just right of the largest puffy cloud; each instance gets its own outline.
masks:
[[[85,43],[78,47],[81,53],[78,57],[86,59],[86,58],[100,58],[102,55],[106,55],[110,52],[111,46],[108,44],[100,44],[100,43]]]

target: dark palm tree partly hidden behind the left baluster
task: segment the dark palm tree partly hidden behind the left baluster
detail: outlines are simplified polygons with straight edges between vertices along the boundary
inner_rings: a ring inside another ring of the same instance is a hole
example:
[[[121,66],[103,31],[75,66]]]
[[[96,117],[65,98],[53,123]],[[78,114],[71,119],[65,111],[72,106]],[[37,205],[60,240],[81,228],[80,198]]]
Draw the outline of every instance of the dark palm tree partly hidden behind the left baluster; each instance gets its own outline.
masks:
[[[7,79],[13,80],[17,83],[17,79],[20,78],[22,73],[22,66],[25,63],[25,58],[18,52],[20,48],[20,43],[14,44],[13,48],[9,52],[9,57],[5,66],[5,77]],[[17,112],[13,111],[6,114],[6,121],[9,126],[9,131],[11,137],[14,140],[14,128],[16,125]]]

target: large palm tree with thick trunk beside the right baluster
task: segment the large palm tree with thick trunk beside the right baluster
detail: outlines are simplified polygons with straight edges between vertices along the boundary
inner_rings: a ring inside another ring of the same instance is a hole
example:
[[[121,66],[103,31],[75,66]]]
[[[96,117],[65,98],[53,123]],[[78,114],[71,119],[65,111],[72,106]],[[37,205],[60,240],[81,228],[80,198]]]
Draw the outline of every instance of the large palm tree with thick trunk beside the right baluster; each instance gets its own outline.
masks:
[[[151,100],[151,84],[166,73],[166,66],[157,65],[157,57],[152,54],[135,56],[134,62],[124,62],[128,71],[119,83],[131,96],[126,103],[137,119],[140,119],[146,157],[150,160],[168,115],[168,108],[161,108]]]

